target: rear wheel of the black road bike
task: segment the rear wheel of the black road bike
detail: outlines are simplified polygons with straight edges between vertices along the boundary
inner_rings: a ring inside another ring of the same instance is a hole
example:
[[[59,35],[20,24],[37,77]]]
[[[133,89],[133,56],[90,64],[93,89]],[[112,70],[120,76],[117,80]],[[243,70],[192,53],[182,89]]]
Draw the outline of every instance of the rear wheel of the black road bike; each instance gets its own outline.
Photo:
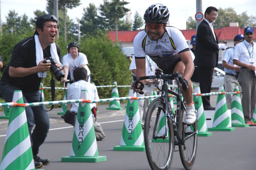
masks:
[[[179,118],[179,124],[178,124],[178,130],[180,132],[180,136],[182,137],[182,128],[183,128],[183,122],[185,121],[186,112],[182,108]],[[197,131],[197,121],[193,125],[186,125],[184,124],[184,138],[191,135],[193,132]],[[195,133],[193,136],[189,137],[185,142],[184,145],[178,146],[180,151],[180,157],[182,165],[185,169],[189,170],[193,167],[195,163],[196,158],[196,149],[197,149],[197,133]]]

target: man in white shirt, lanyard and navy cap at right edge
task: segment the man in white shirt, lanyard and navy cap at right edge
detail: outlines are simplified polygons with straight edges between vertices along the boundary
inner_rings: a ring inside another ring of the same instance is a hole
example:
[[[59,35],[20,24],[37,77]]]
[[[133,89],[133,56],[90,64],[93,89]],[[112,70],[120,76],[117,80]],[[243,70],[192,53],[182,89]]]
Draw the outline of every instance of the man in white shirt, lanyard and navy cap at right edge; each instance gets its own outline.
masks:
[[[245,41],[237,44],[234,49],[233,63],[240,67],[238,82],[242,88],[242,107],[244,121],[250,126],[256,125],[251,118],[254,114],[256,103],[256,46],[252,41],[254,30],[252,27],[244,29]]]

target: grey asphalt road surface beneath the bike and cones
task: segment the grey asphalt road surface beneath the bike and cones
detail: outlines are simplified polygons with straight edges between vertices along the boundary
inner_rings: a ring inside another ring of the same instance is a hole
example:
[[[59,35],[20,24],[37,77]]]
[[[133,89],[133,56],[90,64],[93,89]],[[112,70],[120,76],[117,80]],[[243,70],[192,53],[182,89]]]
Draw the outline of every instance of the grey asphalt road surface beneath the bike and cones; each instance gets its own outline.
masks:
[[[212,106],[216,97],[211,98]],[[214,104],[215,103],[215,104]],[[57,110],[49,113],[50,130],[46,141],[41,145],[39,156],[50,159],[44,170],[148,170],[150,169],[144,151],[114,151],[120,144],[125,105],[123,111],[105,110],[100,106],[99,118],[106,134],[103,141],[97,142],[99,156],[106,156],[107,161],[98,163],[67,163],[61,157],[69,156],[74,128],[56,115]],[[59,111],[59,110],[58,110]],[[255,166],[256,127],[235,128],[235,131],[211,131],[213,136],[198,137],[196,161],[193,170],[252,170]],[[0,160],[5,142],[6,129],[0,129]],[[171,169],[184,169],[180,161],[178,147],[174,154]]]

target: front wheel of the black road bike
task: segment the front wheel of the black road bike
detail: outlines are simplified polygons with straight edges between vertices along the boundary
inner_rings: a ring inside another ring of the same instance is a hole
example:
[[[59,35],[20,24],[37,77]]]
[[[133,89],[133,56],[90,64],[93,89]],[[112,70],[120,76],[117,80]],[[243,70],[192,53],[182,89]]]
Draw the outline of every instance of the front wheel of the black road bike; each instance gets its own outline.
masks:
[[[162,100],[156,98],[150,103],[145,118],[145,149],[148,163],[153,170],[168,170],[173,161],[173,123],[171,118],[167,118],[164,113],[166,113],[166,110]],[[166,126],[168,133],[166,138],[164,138],[166,134]],[[153,136],[159,138],[153,138]]]

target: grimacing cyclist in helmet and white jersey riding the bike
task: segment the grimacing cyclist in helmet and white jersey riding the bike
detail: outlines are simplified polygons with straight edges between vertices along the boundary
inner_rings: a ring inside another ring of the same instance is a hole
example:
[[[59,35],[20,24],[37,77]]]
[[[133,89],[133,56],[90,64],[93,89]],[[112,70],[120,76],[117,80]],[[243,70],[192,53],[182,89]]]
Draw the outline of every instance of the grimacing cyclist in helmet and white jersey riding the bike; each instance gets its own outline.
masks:
[[[193,124],[196,121],[196,110],[190,78],[194,71],[194,62],[186,39],[179,29],[167,26],[169,11],[163,4],[149,6],[143,18],[146,22],[145,29],[133,41],[136,76],[146,76],[146,55],[149,55],[164,74],[182,74],[181,93],[186,101],[185,123]],[[141,82],[144,83],[144,80]],[[139,87],[140,84],[137,85]],[[140,91],[136,89],[136,92]]]

